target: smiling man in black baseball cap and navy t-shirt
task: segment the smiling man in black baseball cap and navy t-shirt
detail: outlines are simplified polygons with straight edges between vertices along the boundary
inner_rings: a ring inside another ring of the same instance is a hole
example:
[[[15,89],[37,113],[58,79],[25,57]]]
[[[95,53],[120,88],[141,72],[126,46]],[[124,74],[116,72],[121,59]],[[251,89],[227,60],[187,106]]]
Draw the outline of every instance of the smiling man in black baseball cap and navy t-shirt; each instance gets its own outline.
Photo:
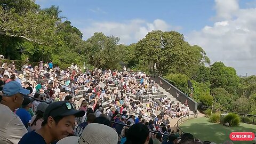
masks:
[[[26,133],[19,144],[49,144],[73,133],[75,118],[84,116],[85,111],[75,110],[68,101],[51,103],[44,112],[42,127]]]

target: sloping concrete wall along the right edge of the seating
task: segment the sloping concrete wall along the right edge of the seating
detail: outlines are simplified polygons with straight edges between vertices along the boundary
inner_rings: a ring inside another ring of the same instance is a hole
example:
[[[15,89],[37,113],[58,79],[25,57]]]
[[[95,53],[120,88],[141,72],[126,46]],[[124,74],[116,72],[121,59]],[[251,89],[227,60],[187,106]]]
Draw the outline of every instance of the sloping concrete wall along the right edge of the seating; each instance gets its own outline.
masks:
[[[189,109],[191,111],[196,111],[197,110],[197,102],[194,101],[193,99],[191,99],[190,97],[188,97],[186,94],[184,94],[183,92],[181,92],[179,89],[177,89],[177,87],[173,86],[172,84],[170,84],[167,79],[164,79],[160,76],[149,76],[151,79],[153,79],[158,85],[160,85],[161,87],[163,87],[163,89],[165,89],[167,92],[169,92],[170,94],[172,94],[172,96],[174,98],[177,98],[180,102],[184,103],[186,102],[186,100],[188,100],[188,106]],[[160,84],[160,81],[163,84]],[[171,87],[171,89],[170,89]]]

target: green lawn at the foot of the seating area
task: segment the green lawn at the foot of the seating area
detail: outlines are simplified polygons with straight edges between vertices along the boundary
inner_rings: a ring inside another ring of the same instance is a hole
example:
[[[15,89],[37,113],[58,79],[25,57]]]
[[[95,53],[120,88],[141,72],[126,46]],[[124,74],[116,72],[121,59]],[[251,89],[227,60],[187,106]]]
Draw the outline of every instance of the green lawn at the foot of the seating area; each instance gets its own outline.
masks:
[[[223,143],[229,139],[231,132],[256,132],[256,125],[240,123],[239,126],[226,127],[221,124],[208,122],[208,118],[194,118],[180,124],[183,132],[189,132],[195,138],[202,141],[209,140],[211,142]],[[235,144],[252,144],[255,141],[233,141]]]

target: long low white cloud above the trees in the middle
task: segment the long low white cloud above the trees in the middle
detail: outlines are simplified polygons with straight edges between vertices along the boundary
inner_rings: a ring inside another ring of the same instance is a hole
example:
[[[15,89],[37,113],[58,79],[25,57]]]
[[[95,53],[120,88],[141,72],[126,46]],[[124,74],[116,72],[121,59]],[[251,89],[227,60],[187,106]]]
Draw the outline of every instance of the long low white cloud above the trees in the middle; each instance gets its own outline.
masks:
[[[105,35],[114,35],[120,38],[120,43],[136,43],[152,30],[178,30],[181,27],[173,27],[161,19],[147,22],[141,19],[133,19],[125,22],[91,22],[91,25],[81,29],[84,39],[87,39],[95,32],[102,32]]]

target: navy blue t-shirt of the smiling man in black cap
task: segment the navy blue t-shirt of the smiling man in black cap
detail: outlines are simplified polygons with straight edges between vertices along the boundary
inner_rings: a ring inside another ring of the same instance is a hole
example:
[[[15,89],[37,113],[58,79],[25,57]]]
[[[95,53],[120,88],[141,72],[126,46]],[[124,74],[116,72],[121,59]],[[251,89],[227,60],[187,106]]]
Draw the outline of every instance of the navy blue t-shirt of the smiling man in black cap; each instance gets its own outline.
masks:
[[[44,138],[36,133],[35,131],[31,131],[23,135],[18,144],[46,144]]]

